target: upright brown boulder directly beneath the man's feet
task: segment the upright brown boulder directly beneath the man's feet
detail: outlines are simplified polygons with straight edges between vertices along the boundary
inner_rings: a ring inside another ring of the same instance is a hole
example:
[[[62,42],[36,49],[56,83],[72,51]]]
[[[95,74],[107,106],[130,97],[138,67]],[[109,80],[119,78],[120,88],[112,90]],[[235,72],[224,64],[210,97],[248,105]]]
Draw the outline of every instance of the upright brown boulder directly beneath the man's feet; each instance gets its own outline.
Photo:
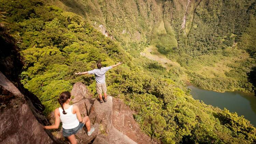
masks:
[[[111,96],[108,96],[107,102],[103,102],[103,104],[100,104],[99,100],[95,99],[89,114],[91,123],[101,124],[106,134],[111,133],[112,129],[112,108]]]

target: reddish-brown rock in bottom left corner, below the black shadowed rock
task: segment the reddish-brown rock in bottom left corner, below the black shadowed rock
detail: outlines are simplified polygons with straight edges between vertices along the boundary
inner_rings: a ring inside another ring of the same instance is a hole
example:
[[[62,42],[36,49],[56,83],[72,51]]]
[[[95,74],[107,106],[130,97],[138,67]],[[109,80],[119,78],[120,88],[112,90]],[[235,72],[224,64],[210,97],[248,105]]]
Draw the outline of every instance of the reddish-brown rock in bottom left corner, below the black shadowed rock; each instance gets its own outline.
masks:
[[[24,95],[0,72],[0,143],[53,143]]]

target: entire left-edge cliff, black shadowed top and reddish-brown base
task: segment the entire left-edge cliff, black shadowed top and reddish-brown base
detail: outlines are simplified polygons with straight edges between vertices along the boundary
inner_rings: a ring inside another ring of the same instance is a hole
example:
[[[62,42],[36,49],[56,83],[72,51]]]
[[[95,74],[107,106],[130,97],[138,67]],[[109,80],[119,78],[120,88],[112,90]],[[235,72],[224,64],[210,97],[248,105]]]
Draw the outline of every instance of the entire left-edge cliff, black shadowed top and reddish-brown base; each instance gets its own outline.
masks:
[[[54,143],[40,126],[49,124],[44,106],[20,83],[23,62],[14,39],[4,32],[0,36],[0,143]]]

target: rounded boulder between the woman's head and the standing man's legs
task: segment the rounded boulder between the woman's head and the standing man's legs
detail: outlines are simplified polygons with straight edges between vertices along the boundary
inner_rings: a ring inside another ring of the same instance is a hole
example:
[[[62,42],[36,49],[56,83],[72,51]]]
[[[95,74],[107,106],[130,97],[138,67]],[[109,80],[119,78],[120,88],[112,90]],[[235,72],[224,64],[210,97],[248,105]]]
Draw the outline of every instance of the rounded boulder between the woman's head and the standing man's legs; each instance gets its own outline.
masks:
[[[81,82],[77,82],[74,84],[71,90],[71,96],[74,97],[72,99],[73,103],[77,103],[82,99],[91,98],[91,94],[89,93],[88,89]]]

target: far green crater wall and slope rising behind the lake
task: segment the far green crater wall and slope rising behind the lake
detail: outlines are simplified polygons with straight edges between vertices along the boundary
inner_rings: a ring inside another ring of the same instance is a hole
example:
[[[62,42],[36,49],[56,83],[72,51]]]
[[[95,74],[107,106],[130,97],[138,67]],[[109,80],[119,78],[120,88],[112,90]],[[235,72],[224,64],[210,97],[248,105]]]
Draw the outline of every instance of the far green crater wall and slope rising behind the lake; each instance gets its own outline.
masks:
[[[252,23],[253,0],[53,0],[50,3],[85,17],[95,28],[104,25],[134,57],[148,45],[157,47],[158,52],[182,66],[187,81],[199,87],[222,92],[253,93],[255,89],[248,80],[255,58],[247,55],[254,47],[240,45],[242,34]],[[249,37],[253,39],[252,35]]]

